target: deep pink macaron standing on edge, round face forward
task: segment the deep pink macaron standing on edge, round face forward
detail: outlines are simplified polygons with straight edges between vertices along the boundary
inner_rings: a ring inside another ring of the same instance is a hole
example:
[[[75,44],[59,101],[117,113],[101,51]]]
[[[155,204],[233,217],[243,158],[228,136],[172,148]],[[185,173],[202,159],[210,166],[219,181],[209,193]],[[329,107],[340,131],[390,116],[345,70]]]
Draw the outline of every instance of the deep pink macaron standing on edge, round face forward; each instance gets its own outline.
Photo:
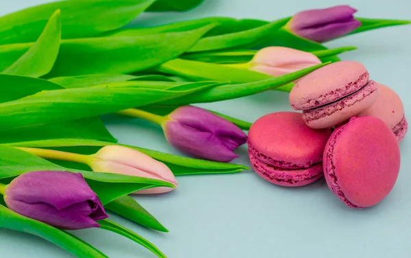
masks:
[[[399,166],[397,139],[374,116],[353,116],[332,133],[324,149],[327,185],[353,208],[381,202],[393,189]]]

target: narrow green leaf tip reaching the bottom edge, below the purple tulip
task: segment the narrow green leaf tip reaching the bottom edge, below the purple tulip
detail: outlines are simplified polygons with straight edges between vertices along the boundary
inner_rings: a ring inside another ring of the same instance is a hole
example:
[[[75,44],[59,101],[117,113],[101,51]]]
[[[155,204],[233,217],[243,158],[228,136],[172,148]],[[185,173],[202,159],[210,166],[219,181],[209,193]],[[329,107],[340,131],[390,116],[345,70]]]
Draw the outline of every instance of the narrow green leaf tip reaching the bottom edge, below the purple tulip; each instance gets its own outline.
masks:
[[[166,255],[162,253],[157,247],[155,247],[151,242],[146,240],[144,237],[134,233],[133,231],[130,231],[129,229],[126,229],[125,227],[121,226],[120,224],[117,224],[116,222],[112,220],[101,220],[99,221],[99,224],[101,226],[101,229],[105,229],[108,231],[112,231],[116,234],[123,235],[123,237],[127,237],[129,240],[132,240],[148,250],[151,250],[155,255],[157,255],[160,258],[166,258]]]

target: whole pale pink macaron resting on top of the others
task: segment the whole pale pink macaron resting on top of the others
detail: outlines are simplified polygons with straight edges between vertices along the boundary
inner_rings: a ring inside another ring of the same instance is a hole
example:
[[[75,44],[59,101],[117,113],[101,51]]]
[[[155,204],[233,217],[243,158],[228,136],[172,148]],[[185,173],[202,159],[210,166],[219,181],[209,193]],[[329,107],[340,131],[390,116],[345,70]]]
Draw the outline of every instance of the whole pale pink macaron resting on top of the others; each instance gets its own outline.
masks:
[[[303,110],[309,127],[339,125],[373,105],[378,85],[359,62],[342,61],[323,66],[303,77],[292,88],[290,105]]]

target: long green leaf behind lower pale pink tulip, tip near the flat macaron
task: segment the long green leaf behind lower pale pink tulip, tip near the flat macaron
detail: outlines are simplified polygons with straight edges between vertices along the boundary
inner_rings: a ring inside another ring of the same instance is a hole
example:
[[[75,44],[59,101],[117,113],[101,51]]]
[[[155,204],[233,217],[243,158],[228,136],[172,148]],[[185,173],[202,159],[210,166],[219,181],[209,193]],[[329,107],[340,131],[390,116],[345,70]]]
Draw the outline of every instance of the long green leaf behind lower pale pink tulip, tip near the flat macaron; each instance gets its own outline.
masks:
[[[192,159],[190,157],[180,157],[169,153],[162,153],[160,151],[153,151],[149,149],[143,149],[136,146],[129,146],[126,144],[116,144],[112,142],[102,142],[96,140],[81,140],[81,139],[53,139],[53,140],[39,140],[32,142],[14,142],[6,144],[8,146],[25,146],[25,147],[58,147],[58,146],[107,146],[107,145],[119,145],[126,146],[137,151],[141,151],[153,157],[154,159],[163,162],[167,166],[173,164],[173,173],[175,175],[187,175],[190,171],[192,175],[201,174],[219,174],[233,171],[247,170],[247,166],[240,164],[229,164],[223,162],[212,162],[203,159]],[[0,168],[1,169],[1,168]],[[179,170],[182,172],[179,172]]]

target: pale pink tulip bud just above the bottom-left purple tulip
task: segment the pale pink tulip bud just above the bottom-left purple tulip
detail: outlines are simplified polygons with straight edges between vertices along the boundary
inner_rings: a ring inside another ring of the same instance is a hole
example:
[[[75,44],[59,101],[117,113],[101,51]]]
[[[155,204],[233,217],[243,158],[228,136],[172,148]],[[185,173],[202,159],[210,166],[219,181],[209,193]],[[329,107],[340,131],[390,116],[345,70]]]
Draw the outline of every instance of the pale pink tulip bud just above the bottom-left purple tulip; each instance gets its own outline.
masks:
[[[104,146],[97,153],[91,155],[88,166],[94,172],[158,179],[173,183],[177,187],[177,180],[168,166],[140,151],[124,146]],[[167,187],[150,188],[134,192],[134,194],[161,194],[173,189]]]

